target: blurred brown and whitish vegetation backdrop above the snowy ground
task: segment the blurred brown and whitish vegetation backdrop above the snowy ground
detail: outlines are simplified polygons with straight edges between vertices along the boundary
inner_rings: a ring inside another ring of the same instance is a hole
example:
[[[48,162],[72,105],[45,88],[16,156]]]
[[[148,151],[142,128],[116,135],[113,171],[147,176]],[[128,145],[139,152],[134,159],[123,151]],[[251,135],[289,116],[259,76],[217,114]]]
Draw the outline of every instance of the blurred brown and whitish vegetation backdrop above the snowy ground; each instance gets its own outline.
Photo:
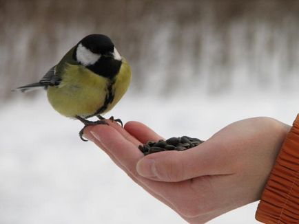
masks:
[[[0,101],[90,33],[130,61],[132,91],[297,88],[298,24],[296,0],[0,0]]]

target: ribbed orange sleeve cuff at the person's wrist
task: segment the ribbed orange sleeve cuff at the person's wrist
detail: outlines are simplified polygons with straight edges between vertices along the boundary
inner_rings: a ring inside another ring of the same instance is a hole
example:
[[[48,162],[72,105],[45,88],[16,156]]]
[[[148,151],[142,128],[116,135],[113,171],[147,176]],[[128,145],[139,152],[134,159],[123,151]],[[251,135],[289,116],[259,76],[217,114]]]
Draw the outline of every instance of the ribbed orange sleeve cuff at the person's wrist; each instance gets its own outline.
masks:
[[[282,144],[256,219],[262,223],[299,223],[299,114]]]

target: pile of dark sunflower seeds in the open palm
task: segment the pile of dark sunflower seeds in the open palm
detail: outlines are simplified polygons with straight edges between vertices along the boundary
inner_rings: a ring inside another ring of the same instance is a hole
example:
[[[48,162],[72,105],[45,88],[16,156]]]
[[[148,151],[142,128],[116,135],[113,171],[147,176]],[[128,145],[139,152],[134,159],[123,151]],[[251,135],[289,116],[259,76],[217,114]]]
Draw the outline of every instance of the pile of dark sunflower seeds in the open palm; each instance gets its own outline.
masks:
[[[161,139],[158,142],[148,141],[145,145],[140,145],[138,148],[144,155],[148,155],[151,153],[158,153],[162,151],[168,150],[187,150],[189,148],[193,148],[203,143],[204,141],[195,138],[195,137],[171,137],[166,141]]]

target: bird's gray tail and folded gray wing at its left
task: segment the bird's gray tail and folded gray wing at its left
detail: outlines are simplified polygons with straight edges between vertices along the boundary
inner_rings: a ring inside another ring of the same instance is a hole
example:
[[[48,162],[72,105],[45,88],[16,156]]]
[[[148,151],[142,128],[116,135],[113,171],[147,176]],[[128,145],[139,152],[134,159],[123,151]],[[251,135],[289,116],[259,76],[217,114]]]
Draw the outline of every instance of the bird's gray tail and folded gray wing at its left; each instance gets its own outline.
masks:
[[[61,82],[61,78],[56,76],[55,67],[53,66],[46,74],[41,78],[39,82],[31,83],[23,87],[18,87],[17,90],[25,92],[34,89],[44,88],[47,89],[48,86],[56,86]]]

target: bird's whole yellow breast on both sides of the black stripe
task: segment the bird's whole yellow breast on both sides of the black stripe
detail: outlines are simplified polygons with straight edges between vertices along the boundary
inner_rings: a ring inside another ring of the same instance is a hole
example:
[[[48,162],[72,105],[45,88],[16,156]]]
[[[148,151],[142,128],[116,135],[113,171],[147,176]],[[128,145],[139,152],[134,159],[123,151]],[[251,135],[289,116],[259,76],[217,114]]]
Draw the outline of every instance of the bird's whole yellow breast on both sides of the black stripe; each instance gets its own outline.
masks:
[[[112,86],[114,99],[107,105],[106,111],[114,107],[129,87],[131,71],[125,60],[115,78]],[[68,65],[59,86],[48,87],[48,100],[56,111],[66,117],[94,115],[103,107],[110,82],[83,66]]]

